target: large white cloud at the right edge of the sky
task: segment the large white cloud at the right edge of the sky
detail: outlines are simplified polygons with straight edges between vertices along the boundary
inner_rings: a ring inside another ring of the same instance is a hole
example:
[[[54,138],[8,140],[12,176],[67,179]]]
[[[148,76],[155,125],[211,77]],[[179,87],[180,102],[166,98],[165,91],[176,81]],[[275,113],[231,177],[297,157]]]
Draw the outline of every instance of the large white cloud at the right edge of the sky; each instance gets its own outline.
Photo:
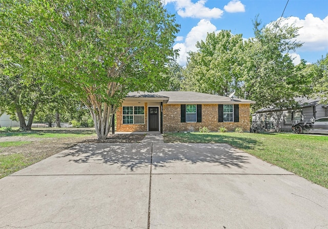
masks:
[[[279,19],[277,19],[279,20]],[[296,40],[304,43],[300,51],[328,51],[328,16],[323,19],[309,13],[304,19],[298,17],[283,18],[281,25],[295,24],[299,29]]]

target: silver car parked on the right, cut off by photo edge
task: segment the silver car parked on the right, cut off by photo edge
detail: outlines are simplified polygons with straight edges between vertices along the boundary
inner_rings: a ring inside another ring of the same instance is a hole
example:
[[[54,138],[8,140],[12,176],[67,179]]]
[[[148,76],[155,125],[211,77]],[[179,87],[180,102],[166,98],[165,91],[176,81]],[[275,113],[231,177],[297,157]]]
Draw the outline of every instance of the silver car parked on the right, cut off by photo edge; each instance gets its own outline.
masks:
[[[317,118],[310,122],[299,122],[292,126],[295,134],[316,133],[328,134],[328,117]]]

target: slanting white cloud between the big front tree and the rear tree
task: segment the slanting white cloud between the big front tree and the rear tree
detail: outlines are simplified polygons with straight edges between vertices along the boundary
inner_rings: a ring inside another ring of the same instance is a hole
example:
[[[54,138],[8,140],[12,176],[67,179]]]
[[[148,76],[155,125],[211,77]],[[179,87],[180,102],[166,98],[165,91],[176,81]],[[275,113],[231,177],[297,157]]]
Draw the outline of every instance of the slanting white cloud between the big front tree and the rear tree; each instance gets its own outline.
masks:
[[[186,66],[188,52],[197,51],[195,46],[197,41],[205,40],[207,33],[214,31],[216,31],[216,27],[209,20],[201,19],[197,26],[190,30],[185,39],[185,43],[177,43],[173,46],[174,49],[179,49],[178,63],[182,66]]]

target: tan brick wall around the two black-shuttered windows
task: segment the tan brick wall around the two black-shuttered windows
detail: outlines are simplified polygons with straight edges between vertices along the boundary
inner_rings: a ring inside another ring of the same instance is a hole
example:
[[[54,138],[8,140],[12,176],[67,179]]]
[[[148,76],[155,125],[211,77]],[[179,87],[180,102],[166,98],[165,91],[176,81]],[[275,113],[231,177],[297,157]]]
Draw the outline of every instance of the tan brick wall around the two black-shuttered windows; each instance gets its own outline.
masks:
[[[181,122],[180,105],[163,105],[163,132],[198,131],[207,127],[210,131],[217,132],[220,127],[226,127],[228,131],[234,131],[241,127],[244,131],[250,130],[250,105],[239,105],[239,122],[218,122],[218,105],[202,105],[201,122]]]

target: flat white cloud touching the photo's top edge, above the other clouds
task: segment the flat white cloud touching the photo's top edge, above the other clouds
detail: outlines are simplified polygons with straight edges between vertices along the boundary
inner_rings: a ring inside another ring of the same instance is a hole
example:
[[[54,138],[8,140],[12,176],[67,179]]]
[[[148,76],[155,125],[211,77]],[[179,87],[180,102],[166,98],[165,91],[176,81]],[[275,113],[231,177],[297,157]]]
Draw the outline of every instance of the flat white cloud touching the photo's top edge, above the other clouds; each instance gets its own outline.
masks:
[[[192,3],[191,0],[164,0],[165,5],[174,3],[177,13],[181,17],[194,17],[194,18],[220,18],[223,11],[219,8],[208,8],[205,6],[206,0],[199,0]]]

